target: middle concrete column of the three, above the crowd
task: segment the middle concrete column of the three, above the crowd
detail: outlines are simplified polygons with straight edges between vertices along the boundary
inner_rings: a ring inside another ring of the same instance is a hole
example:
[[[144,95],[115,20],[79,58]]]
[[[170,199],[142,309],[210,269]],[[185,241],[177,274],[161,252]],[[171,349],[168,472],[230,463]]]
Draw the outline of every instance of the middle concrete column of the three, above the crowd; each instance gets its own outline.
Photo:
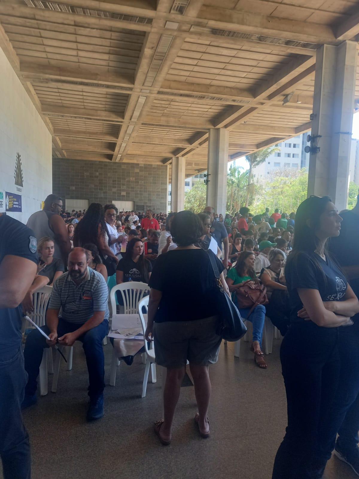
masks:
[[[227,203],[228,138],[229,132],[224,128],[209,130],[206,202],[223,216]]]

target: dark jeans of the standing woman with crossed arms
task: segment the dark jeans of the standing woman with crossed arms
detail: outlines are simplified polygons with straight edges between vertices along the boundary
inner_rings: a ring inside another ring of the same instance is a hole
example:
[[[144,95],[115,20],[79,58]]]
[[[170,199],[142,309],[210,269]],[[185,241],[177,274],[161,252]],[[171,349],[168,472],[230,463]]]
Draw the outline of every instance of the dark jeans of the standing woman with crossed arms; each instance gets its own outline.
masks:
[[[288,426],[272,479],[314,478],[318,432],[327,421],[339,377],[337,329],[314,323],[291,325],[280,348]]]

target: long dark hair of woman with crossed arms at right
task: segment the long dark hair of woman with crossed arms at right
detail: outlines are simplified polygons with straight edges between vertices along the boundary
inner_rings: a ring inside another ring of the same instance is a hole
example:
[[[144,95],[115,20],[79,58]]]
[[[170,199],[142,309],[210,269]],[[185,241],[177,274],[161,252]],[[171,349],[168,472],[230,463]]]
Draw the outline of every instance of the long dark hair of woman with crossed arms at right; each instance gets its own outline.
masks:
[[[300,253],[307,252],[311,254],[311,260],[325,280],[320,262],[316,255],[312,255],[312,253],[319,244],[315,231],[319,227],[320,216],[325,212],[326,205],[331,201],[329,196],[310,196],[298,206],[295,215],[293,250],[288,256],[286,267],[290,264],[295,268],[299,261],[303,261]],[[324,254],[328,256],[327,241],[324,245]]]

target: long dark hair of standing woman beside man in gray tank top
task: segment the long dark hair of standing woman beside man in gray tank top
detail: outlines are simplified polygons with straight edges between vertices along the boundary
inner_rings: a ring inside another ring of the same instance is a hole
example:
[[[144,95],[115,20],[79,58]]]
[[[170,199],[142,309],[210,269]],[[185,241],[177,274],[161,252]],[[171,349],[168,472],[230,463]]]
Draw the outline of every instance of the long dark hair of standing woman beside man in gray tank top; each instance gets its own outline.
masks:
[[[107,233],[105,223],[105,212],[100,203],[91,203],[85,216],[79,221],[75,228],[74,246],[82,246],[86,243],[93,243],[99,247],[99,232],[100,236],[105,238]]]

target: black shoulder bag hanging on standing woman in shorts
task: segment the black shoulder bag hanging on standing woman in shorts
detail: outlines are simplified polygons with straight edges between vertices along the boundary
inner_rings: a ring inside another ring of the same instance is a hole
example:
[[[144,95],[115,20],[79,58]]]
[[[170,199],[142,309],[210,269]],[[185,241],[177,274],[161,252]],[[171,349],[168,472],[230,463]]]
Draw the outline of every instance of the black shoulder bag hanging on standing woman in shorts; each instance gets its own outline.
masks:
[[[236,305],[223,289],[218,266],[213,255],[211,255],[208,250],[206,252],[212,264],[213,273],[218,286],[215,289],[215,301],[218,305],[219,311],[216,334],[221,336],[225,341],[238,341],[246,334],[246,325],[242,321]]]

